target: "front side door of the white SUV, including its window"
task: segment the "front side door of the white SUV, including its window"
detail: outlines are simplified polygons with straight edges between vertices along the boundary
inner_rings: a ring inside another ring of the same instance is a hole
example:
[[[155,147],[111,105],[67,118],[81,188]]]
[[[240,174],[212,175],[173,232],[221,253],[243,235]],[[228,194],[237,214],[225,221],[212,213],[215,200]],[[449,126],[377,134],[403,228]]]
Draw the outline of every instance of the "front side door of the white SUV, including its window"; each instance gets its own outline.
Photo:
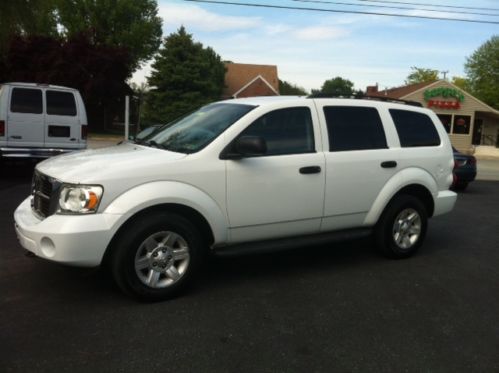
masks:
[[[239,136],[260,136],[264,156],[227,160],[231,242],[319,231],[324,155],[313,105],[272,110]]]

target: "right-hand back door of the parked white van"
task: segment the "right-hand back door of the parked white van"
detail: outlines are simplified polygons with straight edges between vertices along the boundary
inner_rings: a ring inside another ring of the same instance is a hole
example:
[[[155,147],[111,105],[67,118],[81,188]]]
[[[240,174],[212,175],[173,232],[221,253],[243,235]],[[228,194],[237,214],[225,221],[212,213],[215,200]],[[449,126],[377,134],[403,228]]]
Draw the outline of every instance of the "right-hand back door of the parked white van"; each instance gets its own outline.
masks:
[[[45,146],[72,148],[78,146],[80,120],[71,91],[46,89]]]

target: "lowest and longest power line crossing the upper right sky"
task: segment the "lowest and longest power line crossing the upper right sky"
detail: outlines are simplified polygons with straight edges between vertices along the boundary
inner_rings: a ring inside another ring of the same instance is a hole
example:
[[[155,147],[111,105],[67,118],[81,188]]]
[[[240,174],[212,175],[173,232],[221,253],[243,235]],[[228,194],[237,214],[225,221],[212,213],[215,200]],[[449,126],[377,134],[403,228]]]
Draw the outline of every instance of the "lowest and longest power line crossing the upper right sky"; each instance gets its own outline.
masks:
[[[220,5],[238,5],[238,6],[257,7],[257,8],[306,10],[306,11],[313,11],[313,12],[346,13],[346,14],[363,14],[363,15],[386,16],[386,17],[432,19],[432,20],[435,20],[435,21],[456,21],[456,22],[469,22],[469,23],[487,23],[487,24],[494,24],[494,25],[499,24],[499,22],[496,22],[496,21],[484,21],[484,20],[465,19],[465,18],[428,17],[428,16],[418,16],[418,15],[409,15],[409,14],[395,14],[395,13],[362,12],[362,11],[356,11],[356,10],[305,8],[305,7],[283,6],[283,5],[270,5],[270,4],[234,3],[234,2],[230,2],[230,1],[218,1],[218,0],[217,1],[215,1],[215,0],[184,0],[184,1],[190,1],[190,2],[195,2],[195,3],[220,4]]]

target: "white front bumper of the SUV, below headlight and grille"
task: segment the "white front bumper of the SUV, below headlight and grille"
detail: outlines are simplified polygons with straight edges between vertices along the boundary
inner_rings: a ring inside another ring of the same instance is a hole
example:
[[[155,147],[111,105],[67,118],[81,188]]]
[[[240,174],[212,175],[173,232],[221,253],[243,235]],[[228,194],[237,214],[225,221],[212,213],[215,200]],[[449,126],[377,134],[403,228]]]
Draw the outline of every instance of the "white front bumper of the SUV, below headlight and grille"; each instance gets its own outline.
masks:
[[[33,214],[30,199],[14,212],[21,246],[55,262],[80,267],[100,265],[122,215],[51,215],[41,220]]]

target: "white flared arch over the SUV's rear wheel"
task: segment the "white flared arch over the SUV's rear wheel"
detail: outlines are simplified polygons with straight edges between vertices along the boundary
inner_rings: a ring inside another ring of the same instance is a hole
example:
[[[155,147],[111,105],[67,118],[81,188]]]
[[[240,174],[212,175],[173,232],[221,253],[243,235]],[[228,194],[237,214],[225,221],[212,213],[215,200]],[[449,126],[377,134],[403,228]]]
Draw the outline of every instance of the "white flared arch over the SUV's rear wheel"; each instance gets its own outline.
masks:
[[[393,196],[409,185],[421,185],[425,187],[433,196],[434,200],[438,194],[437,183],[429,172],[418,167],[405,168],[393,175],[383,189],[381,189],[381,192],[378,194],[378,197],[364,220],[364,225],[373,226],[376,224]]]

